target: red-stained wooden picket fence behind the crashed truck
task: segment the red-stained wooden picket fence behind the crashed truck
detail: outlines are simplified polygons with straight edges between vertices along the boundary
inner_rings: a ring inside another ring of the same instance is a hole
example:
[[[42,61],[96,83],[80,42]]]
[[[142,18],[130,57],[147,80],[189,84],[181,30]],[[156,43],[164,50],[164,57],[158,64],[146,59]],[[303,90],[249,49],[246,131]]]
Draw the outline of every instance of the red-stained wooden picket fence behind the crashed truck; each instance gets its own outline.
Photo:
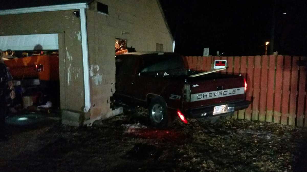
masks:
[[[185,56],[185,67],[197,71],[212,69],[214,60],[227,60],[221,73],[241,73],[247,80],[247,100],[251,105],[235,113],[234,118],[275,122],[307,127],[306,68],[298,66],[306,57]]]

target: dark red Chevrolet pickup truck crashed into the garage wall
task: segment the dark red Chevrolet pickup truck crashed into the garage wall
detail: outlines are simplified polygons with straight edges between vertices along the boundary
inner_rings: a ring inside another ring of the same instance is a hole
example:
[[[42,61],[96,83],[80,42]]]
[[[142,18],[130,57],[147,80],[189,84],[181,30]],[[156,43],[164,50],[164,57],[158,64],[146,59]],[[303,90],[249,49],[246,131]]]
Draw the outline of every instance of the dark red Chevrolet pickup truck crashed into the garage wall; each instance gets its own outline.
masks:
[[[210,118],[233,114],[250,105],[241,75],[185,69],[175,53],[134,52],[116,56],[115,101],[148,108],[153,126],[175,118]]]

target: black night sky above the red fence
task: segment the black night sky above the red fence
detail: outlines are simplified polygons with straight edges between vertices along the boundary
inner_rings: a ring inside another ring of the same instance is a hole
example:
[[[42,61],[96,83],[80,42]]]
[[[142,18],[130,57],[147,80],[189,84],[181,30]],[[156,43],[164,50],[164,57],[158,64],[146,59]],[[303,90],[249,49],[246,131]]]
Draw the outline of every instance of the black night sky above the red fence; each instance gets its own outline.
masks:
[[[160,1],[182,55],[264,55],[272,35],[278,54],[307,55],[306,0]]]

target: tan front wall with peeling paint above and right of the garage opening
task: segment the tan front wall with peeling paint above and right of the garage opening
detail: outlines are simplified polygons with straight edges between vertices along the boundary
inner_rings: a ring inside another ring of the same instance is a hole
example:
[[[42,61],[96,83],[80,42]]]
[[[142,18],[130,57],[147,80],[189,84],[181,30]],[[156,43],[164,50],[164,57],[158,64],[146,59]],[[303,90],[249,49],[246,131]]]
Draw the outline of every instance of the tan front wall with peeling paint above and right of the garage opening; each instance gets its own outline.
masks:
[[[81,28],[80,18],[76,18],[73,11],[1,15],[0,36],[59,33],[59,51],[64,52],[59,56],[61,108],[82,111],[84,81]]]

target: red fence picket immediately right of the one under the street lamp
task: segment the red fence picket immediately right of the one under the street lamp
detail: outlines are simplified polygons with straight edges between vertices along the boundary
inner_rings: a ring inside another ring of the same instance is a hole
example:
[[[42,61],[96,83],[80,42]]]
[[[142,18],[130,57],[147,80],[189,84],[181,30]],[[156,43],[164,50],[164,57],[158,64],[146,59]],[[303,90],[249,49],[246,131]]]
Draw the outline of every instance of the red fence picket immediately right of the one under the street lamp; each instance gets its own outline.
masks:
[[[266,122],[272,122],[274,102],[274,78],[276,56],[270,55],[269,74],[267,83]]]

